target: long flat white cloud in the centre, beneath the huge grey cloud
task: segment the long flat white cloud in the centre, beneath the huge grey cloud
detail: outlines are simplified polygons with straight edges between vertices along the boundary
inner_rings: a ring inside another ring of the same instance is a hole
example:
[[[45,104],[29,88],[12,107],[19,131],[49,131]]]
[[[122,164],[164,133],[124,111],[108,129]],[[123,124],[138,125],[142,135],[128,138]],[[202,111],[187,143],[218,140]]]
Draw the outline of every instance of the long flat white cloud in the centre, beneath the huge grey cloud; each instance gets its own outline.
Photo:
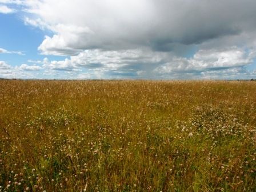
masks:
[[[139,62],[141,65],[150,66],[170,58],[167,53],[153,53],[150,50],[134,49],[119,51],[85,50],[78,55],[71,56],[63,61],[49,61],[45,58],[43,67],[53,70],[74,70],[79,67],[87,69],[101,68],[104,70],[118,70],[133,68]]]

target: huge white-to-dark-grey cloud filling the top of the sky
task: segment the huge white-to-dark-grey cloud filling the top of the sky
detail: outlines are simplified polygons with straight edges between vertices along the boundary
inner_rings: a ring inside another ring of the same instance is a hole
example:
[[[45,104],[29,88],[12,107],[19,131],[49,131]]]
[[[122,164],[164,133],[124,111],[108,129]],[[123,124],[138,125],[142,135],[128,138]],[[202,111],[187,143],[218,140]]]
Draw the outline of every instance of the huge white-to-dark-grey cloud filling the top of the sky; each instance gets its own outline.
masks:
[[[44,0],[27,3],[27,11],[38,18],[25,22],[55,33],[38,47],[42,54],[74,55],[86,49],[138,46],[170,51],[177,44],[200,44],[255,30],[255,6],[251,0]]]

